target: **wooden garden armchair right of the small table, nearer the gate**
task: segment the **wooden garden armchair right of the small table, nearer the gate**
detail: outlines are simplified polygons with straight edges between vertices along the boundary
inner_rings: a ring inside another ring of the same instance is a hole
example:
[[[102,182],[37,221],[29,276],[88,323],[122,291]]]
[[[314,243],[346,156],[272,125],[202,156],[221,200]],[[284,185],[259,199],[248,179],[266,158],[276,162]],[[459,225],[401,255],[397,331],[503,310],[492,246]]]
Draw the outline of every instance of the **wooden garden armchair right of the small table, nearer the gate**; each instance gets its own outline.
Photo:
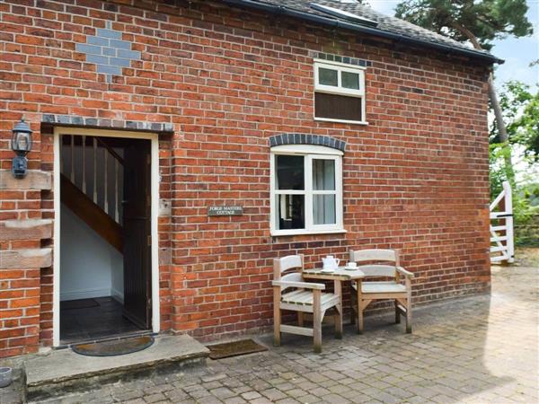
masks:
[[[358,316],[358,333],[363,333],[363,312],[374,300],[393,299],[395,322],[406,316],[406,332],[411,333],[411,278],[414,275],[399,266],[398,250],[350,250],[349,260],[358,263],[365,277],[394,277],[391,281],[363,282],[359,279],[352,284],[352,308]],[[370,261],[371,264],[361,265]],[[376,264],[373,264],[376,262]],[[381,262],[384,264],[381,265]],[[404,277],[402,284],[401,277]],[[352,318],[354,321],[354,317]]]

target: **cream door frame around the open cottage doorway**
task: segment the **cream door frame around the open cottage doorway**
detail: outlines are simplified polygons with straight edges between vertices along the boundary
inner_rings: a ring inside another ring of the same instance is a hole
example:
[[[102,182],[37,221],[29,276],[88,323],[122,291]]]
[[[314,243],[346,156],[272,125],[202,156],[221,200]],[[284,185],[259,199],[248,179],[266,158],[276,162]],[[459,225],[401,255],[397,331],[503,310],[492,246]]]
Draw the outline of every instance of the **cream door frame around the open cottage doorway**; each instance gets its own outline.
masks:
[[[147,139],[151,141],[151,237],[152,237],[152,331],[160,330],[159,304],[159,139],[156,133],[133,132],[114,129],[90,129],[86,127],[55,127],[54,128],[54,242],[53,242],[53,285],[52,285],[52,345],[60,346],[60,136],[102,136],[122,137],[130,139]]]

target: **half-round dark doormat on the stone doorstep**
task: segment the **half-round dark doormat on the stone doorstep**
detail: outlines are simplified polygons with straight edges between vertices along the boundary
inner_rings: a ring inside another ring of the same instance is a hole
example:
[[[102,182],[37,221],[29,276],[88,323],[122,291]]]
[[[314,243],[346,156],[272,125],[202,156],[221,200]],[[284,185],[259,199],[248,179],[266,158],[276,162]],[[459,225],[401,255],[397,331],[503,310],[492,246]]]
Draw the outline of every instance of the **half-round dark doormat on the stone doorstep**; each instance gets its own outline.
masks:
[[[154,344],[154,337],[145,335],[135,338],[113,339],[110,341],[79,344],[71,347],[77,354],[84,356],[118,356],[142,351]]]

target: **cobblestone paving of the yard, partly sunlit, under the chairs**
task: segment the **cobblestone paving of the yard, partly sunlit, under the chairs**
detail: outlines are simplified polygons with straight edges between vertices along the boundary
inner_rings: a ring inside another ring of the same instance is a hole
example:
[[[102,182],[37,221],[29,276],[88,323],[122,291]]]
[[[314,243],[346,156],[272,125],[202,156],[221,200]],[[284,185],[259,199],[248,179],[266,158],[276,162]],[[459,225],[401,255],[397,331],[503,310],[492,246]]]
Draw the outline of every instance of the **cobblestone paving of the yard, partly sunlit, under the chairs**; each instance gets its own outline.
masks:
[[[414,333],[368,318],[342,340],[309,338],[183,372],[104,385],[61,403],[537,403],[539,268],[493,268],[492,294],[416,308]],[[261,338],[270,344],[270,338]]]

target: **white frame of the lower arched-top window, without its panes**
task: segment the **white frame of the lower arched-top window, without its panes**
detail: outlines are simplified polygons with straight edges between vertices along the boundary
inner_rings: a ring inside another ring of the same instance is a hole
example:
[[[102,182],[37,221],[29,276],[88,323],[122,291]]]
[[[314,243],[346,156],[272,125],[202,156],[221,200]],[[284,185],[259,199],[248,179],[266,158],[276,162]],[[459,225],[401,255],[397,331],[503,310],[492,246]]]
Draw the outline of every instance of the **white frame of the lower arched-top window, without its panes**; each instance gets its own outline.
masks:
[[[305,189],[287,190],[276,187],[276,156],[301,155],[304,157]],[[272,236],[294,234],[346,233],[342,214],[342,155],[340,150],[320,145],[278,145],[271,148],[270,153],[270,233]],[[333,160],[335,162],[335,190],[313,189],[313,160]],[[313,195],[335,195],[335,224],[314,224]],[[277,195],[305,195],[305,228],[278,229],[276,206]]]

